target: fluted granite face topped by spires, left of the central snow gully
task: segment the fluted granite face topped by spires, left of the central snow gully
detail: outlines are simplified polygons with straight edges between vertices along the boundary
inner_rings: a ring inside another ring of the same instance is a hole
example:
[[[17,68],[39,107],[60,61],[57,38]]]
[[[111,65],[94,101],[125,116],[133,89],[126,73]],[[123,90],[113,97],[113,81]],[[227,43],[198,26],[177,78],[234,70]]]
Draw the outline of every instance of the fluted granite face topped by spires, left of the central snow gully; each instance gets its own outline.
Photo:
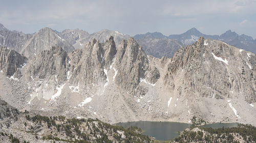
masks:
[[[99,43],[97,40],[88,42],[82,52],[76,52],[71,58],[71,77],[70,83],[73,87],[79,87],[81,92],[95,93],[102,95],[105,86],[108,84],[106,70],[109,69],[116,53],[116,46],[113,37],[106,40],[105,43]],[[74,65],[75,63],[75,65]]]

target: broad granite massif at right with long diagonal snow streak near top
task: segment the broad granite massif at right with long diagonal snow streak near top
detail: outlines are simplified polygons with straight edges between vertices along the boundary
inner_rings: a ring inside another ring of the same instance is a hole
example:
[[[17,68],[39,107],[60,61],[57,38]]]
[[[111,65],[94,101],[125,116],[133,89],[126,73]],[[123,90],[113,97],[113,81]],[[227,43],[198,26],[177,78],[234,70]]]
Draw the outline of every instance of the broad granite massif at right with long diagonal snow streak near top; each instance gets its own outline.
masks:
[[[201,37],[175,53],[165,84],[180,95],[217,99],[242,96],[252,103],[256,101],[255,66],[254,53]]]

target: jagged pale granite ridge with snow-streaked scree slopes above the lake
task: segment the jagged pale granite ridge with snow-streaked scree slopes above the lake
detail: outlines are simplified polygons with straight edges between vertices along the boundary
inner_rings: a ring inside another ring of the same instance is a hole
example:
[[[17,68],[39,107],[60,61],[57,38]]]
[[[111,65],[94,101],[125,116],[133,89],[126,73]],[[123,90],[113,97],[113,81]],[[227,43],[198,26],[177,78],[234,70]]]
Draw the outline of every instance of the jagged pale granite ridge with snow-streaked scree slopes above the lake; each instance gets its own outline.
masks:
[[[49,41],[37,39],[49,34],[62,42],[51,31],[44,28],[32,39]],[[76,37],[72,32],[66,34]],[[92,37],[70,52],[52,44],[29,59],[19,80],[0,74],[0,85],[15,89],[5,90],[4,100],[22,110],[109,123],[187,123],[197,116],[210,123],[255,124],[256,60],[249,51],[203,37],[180,48],[172,59],[146,55],[134,38],[116,44],[115,35],[104,37],[104,42]],[[22,100],[14,102],[17,99]]]

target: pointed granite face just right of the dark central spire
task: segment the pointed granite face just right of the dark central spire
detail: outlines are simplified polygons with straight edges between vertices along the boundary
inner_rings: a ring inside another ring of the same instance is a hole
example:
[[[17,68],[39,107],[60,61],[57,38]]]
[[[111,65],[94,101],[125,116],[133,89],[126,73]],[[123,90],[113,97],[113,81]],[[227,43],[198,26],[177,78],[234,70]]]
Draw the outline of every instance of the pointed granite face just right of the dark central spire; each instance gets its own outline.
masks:
[[[118,67],[115,82],[128,93],[145,95],[140,91],[139,83],[143,80],[155,84],[160,77],[159,71],[149,65],[147,55],[133,39],[123,40],[118,47],[115,66]]]

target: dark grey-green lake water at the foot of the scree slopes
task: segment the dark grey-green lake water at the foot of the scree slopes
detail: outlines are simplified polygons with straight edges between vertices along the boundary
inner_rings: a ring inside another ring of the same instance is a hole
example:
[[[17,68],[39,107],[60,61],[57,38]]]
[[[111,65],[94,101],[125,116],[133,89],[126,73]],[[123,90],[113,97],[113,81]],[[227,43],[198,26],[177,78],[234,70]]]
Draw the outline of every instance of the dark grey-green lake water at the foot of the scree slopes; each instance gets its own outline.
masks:
[[[143,134],[155,137],[157,140],[169,140],[179,136],[178,131],[183,131],[189,128],[191,124],[178,123],[178,122],[127,122],[118,123],[117,125],[124,128],[137,126],[143,130]],[[236,127],[237,123],[214,123],[208,124],[204,127],[221,128],[221,127]]]

